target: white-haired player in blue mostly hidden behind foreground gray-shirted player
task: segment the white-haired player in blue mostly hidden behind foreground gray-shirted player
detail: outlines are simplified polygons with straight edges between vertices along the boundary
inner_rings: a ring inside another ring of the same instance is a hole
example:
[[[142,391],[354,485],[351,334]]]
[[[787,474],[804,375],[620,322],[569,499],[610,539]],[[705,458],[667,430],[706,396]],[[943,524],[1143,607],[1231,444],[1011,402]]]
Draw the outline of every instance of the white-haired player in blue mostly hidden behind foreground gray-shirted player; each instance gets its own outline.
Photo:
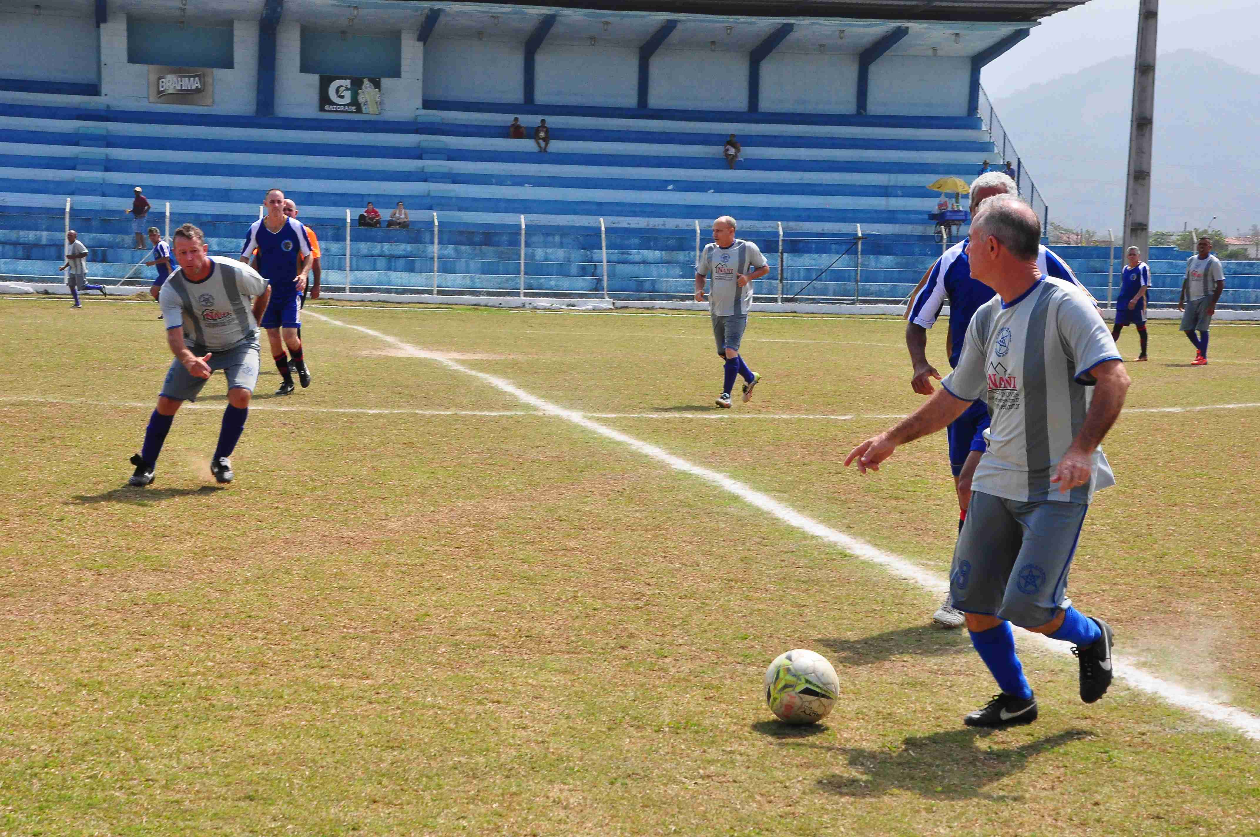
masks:
[[[1016,182],[1000,171],[987,171],[971,182],[971,217],[985,198],[998,194],[1016,194]],[[949,301],[949,352],[950,368],[958,366],[963,348],[963,334],[980,305],[993,299],[993,289],[971,277],[971,267],[966,255],[968,242],[964,238],[946,250],[925,274],[919,287],[910,296],[906,308],[906,348],[914,373],[910,386],[922,396],[932,395],[931,378],[940,381],[940,373],[927,361],[927,329],[936,324],[941,309]],[[1050,250],[1038,246],[1037,270],[1043,276],[1062,279],[1080,285],[1072,270]],[[1084,289],[1082,289],[1084,290]],[[984,431],[989,426],[989,408],[984,401],[976,401],[953,421],[946,431],[949,444],[949,465],[954,471],[954,489],[958,494],[958,527],[963,528],[966,518],[968,500],[971,497],[971,474],[984,453]],[[941,628],[961,628],[963,614],[950,604],[949,597],[932,614],[932,623]]]

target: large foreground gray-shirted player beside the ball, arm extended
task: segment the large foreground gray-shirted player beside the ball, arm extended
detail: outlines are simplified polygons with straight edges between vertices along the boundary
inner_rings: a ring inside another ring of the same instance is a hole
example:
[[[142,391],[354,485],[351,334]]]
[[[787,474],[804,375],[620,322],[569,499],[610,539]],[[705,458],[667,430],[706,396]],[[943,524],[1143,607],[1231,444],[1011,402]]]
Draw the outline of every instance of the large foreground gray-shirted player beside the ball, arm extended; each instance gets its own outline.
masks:
[[[1099,444],[1120,415],[1129,376],[1089,299],[1037,266],[1041,222],[1013,195],[971,222],[971,272],[997,292],[961,338],[958,367],[924,406],[844,460],[878,470],[898,445],[944,429],[976,398],[992,410],[989,449],[954,548],[950,592],[971,644],[1002,690],[968,726],[1029,724],[1037,700],[1011,623],[1070,642],[1080,695],[1111,684],[1111,628],[1066,597],[1067,570],[1094,492],[1115,484]]]

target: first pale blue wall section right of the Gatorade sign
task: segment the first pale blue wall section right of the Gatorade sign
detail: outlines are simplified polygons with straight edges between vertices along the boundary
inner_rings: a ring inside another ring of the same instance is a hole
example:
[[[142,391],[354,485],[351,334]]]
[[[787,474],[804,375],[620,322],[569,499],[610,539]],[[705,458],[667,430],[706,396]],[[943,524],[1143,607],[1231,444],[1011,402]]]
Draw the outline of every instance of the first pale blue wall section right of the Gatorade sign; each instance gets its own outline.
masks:
[[[524,44],[430,38],[425,45],[425,98],[519,103],[525,101],[524,67]],[[537,64],[534,73],[538,101]]]

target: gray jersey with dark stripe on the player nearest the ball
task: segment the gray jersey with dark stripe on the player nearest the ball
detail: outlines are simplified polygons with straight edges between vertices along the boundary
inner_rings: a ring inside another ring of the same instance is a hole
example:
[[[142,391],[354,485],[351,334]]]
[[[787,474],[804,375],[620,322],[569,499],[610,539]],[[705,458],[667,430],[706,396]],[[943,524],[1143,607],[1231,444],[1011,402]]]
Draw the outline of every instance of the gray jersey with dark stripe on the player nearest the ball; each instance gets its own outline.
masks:
[[[971,489],[1018,502],[1089,503],[1115,484],[1102,449],[1086,485],[1061,493],[1050,482],[1085,424],[1090,369],[1120,353],[1090,299],[1057,279],[1042,279],[1005,305],[994,296],[976,310],[958,368],[941,381],[950,395],[984,398],[988,451]]]

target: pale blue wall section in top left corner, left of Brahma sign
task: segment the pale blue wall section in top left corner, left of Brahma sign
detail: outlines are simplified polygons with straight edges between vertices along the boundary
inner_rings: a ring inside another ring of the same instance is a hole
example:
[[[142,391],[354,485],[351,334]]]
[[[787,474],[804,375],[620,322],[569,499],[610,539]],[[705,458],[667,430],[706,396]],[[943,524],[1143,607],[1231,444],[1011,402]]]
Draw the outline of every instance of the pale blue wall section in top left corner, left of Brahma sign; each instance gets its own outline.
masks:
[[[5,42],[0,50],[0,78],[94,84],[101,54],[96,13],[37,15],[34,4],[21,8],[23,11],[0,11]]]

